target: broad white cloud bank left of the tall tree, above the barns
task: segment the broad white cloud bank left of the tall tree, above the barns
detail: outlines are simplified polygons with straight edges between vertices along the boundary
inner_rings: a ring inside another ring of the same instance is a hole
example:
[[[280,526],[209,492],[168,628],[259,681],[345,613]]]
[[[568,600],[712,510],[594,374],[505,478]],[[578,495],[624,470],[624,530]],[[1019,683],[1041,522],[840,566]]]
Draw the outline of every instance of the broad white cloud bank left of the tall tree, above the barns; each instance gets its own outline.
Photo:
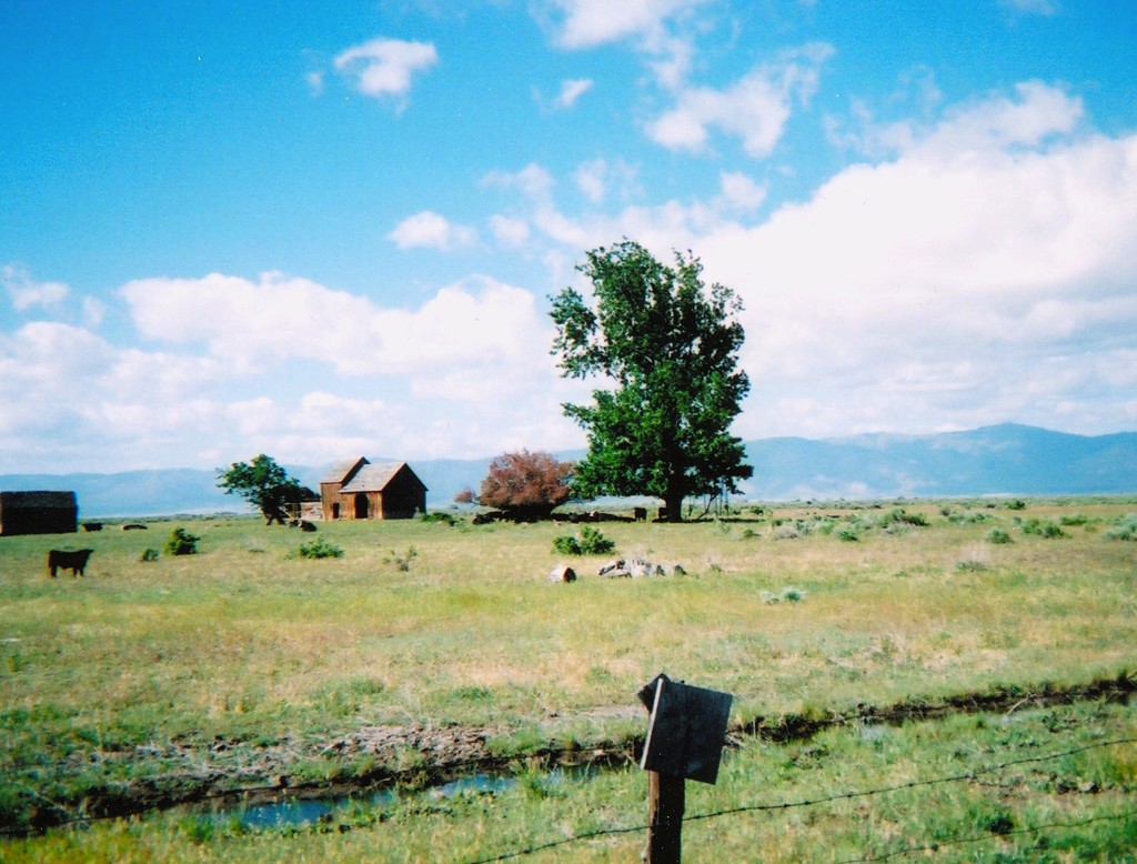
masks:
[[[0,472],[580,443],[551,324],[533,294],[489,277],[415,308],[281,274],[138,280],[117,297],[144,347],[52,322],[0,332]]]

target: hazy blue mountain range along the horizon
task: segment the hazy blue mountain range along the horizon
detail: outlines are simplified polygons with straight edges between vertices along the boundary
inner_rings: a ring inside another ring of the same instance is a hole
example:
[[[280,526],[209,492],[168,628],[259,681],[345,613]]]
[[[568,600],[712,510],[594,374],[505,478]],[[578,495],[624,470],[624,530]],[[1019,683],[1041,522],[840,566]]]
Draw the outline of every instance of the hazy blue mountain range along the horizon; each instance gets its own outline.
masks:
[[[1086,437],[1004,424],[931,435],[767,438],[747,442],[746,452],[754,477],[742,493],[757,500],[1137,493],[1137,432]],[[460,489],[476,490],[489,462],[424,459],[410,467],[430,489],[428,505],[442,507]],[[288,470],[318,489],[327,466]],[[216,472],[194,468],[0,474],[0,491],[74,490],[81,518],[248,510],[216,482]]]

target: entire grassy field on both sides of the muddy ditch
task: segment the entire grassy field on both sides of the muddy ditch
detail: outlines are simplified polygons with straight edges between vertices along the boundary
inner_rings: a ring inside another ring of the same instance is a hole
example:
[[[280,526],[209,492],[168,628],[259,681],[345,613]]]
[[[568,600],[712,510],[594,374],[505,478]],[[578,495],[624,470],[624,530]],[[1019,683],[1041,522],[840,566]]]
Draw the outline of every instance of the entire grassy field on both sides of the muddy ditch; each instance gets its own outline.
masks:
[[[616,542],[614,555],[678,563],[686,571],[638,580],[599,579],[601,557],[555,554],[554,539],[575,526],[551,523],[335,523],[322,525],[318,537],[343,556],[315,560],[297,555],[313,535],[254,518],[2,538],[0,821],[18,830],[59,813],[82,816],[90,801],[114,790],[130,797],[140,788],[169,791],[179,782],[247,787],[269,762],[297,786],[367,776],[383,767],[380,757],[398,762],[393,769],[445,756],[414,747],[393,755],[327,750],[329,741],[360,730],[476,730],[485,751],[516,757],[518,765],[550,746],[582,753],[619,746],[642,733],[636,691],[661,671],[733,693],[739,728],[757,717],[832,716],[855,713],[858,705],[919,705],[997,687],[1023,691],[1024,706],[1011,714],[1022,728],[1045,729],[1060,721],[1035,708],[1032,690],[1077,687],[1135,666],[1135,512],[1137,500],[1124,499],[1028,501],[1022,508],[1006,501],[841,502],[762,513],[744,507],[729,520],[698,524],[599,525]],[[199,553],[142,560],[147,549],[161,553],[175,526],[200,537]],[[47,576],[48,549],[78,547],[96,550],[85,579]],[[548,583],[546,574],[559,560],[581,579]],[[1134,737],[1131,706],[1047,711],[1069,712],[1074,720],[1061,723],[1077,730],[1053,740],[1030,733],[1054,750],[1078,746],[1078,736],[1101,740],[1095,730]],[[880,740],[922,741],[897,743],[910,749],[943,740],[945,753],[987,746],[990,754],[979,755],[1006,761],[996,745],[977,743],[984,736],[973,732],[982,724],[1005,731],[999,716],[948,718]],[[820,765],[806,772],[820,779],[819,788],[855,787],[862,773],[869,786],[890,782],[887,766],[871,767],[877,739],[865,740],[855,729],[823,736],[832,742],[791,742],[786,749],[750,739],[731,754],[719,786],[706,788],[708,808],[777,791],[771,771],[789,783],[786,795],[818,795],[798,788],[803,772],[796,767],[777,769],[794,748],[843,754],[836,765],[819,759],[831,778]],[[1109,774],[1109,787],[1093,781],[1109,795],[1070,798],[1059,791],[1051,800],[1053,790],[1036,790],[1041,781],[1030,775],[1011,783],[1006,819],[1014,825],[1054,822],[1047,807],[1103,815],[1121,806],[1113,799],[1131,801],[1131,746],[1095,753],[1084,758]],[[273,758],[266,762],[265,754]],[[752,759],[755,766],[746,767]],[[1089,769],[1071,771],[1081,776]],[[392,809],[381,820],[360,813],[350,839],[315,829],[252,836],[213,822],[206,830],[199,820],[171,814],[11,839],[0,846],[0,857],[326,859],[334,858],[327,845],[341,842],[345,861],[352,850],[358,859],[360,848],[372,848],[367,856],[376,859],[430,861],[439,850],[446,850],[442,859],[449,853],[472,859],[529,845],[524,838],[541,836],[531,831],[533,819],[559,825],[549,833],[561,836],[594,823],[637,822],[636,805],[625,806],[621,796],[642,800],[638,771],[606,772],[579,790],[572,783],[551,788],[536,769],[521,773],[525,782],[508,795],[445,805],[400,797],[400,804],[384,805]],[[989,791],[979,789],[970,791]],[[944,831],[965,832],[970,799],[957,789],[945,796],[936,812],[947,823],[960,819]],[[516,812],[508,804],[514,798]],[[723,819],[712,834],[737,833],[732,842],[754,848],[781,838],[777,842],[787,848],[818,853],[806,859],[870,857],[891,848],[894,830],[885,826],[899,816],[862,819],[857,806],[845,803],[824,816],[800,813],[792,819],[810,824],[794,831],[780,816]],[[979,807],[972,822],[982,822],[988,809]],[[1006,825],[991,819],[996,828]],[[771,828],[755,828],[763,820]],[[896,837],[912,840],[912,825],[903,819],[898,825]],[[1132,848],[1131,815],[1089,825],[1072,836],[1114,850],[1126,848],[1128,837]],[[700,830],[692,826],[691,837]],[[1043,859],[1031,845],[1041,834],[1012,841],[1013,834],[995,833],[993,849],[1020,855],[1007,859]],[[1048,836],[1054,842],[1054,832]],[[828,837],[832,845],[818,845]],[[606,837],[542,855],[628,859],[629,844],[641,846],[642,838]],[[961,850],[958,859],[973,853]],[[1055,861],[1094,859],[1053,854]],[[1097,859],[1115,859],[1111,855]],[[787,856],[766,859],[803,859]]]

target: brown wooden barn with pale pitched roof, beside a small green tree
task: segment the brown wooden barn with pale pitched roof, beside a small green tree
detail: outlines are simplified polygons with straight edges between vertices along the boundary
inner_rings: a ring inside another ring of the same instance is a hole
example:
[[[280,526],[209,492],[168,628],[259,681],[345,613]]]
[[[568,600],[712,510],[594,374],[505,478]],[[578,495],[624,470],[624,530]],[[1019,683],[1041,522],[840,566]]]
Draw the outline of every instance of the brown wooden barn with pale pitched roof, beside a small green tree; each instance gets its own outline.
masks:
[[[408,520],[426,512],[426,487],[405,462],[341,462],[319,481],[325,520]]]

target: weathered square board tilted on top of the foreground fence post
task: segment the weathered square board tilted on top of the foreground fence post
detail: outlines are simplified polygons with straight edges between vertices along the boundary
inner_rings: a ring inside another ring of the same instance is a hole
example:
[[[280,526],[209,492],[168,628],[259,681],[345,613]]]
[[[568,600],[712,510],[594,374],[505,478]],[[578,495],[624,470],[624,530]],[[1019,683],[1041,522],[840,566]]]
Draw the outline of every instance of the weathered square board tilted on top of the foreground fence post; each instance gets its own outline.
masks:
[[[658,675],[639,692],[652,712],[640,767],[714,783],[733,697]]]

